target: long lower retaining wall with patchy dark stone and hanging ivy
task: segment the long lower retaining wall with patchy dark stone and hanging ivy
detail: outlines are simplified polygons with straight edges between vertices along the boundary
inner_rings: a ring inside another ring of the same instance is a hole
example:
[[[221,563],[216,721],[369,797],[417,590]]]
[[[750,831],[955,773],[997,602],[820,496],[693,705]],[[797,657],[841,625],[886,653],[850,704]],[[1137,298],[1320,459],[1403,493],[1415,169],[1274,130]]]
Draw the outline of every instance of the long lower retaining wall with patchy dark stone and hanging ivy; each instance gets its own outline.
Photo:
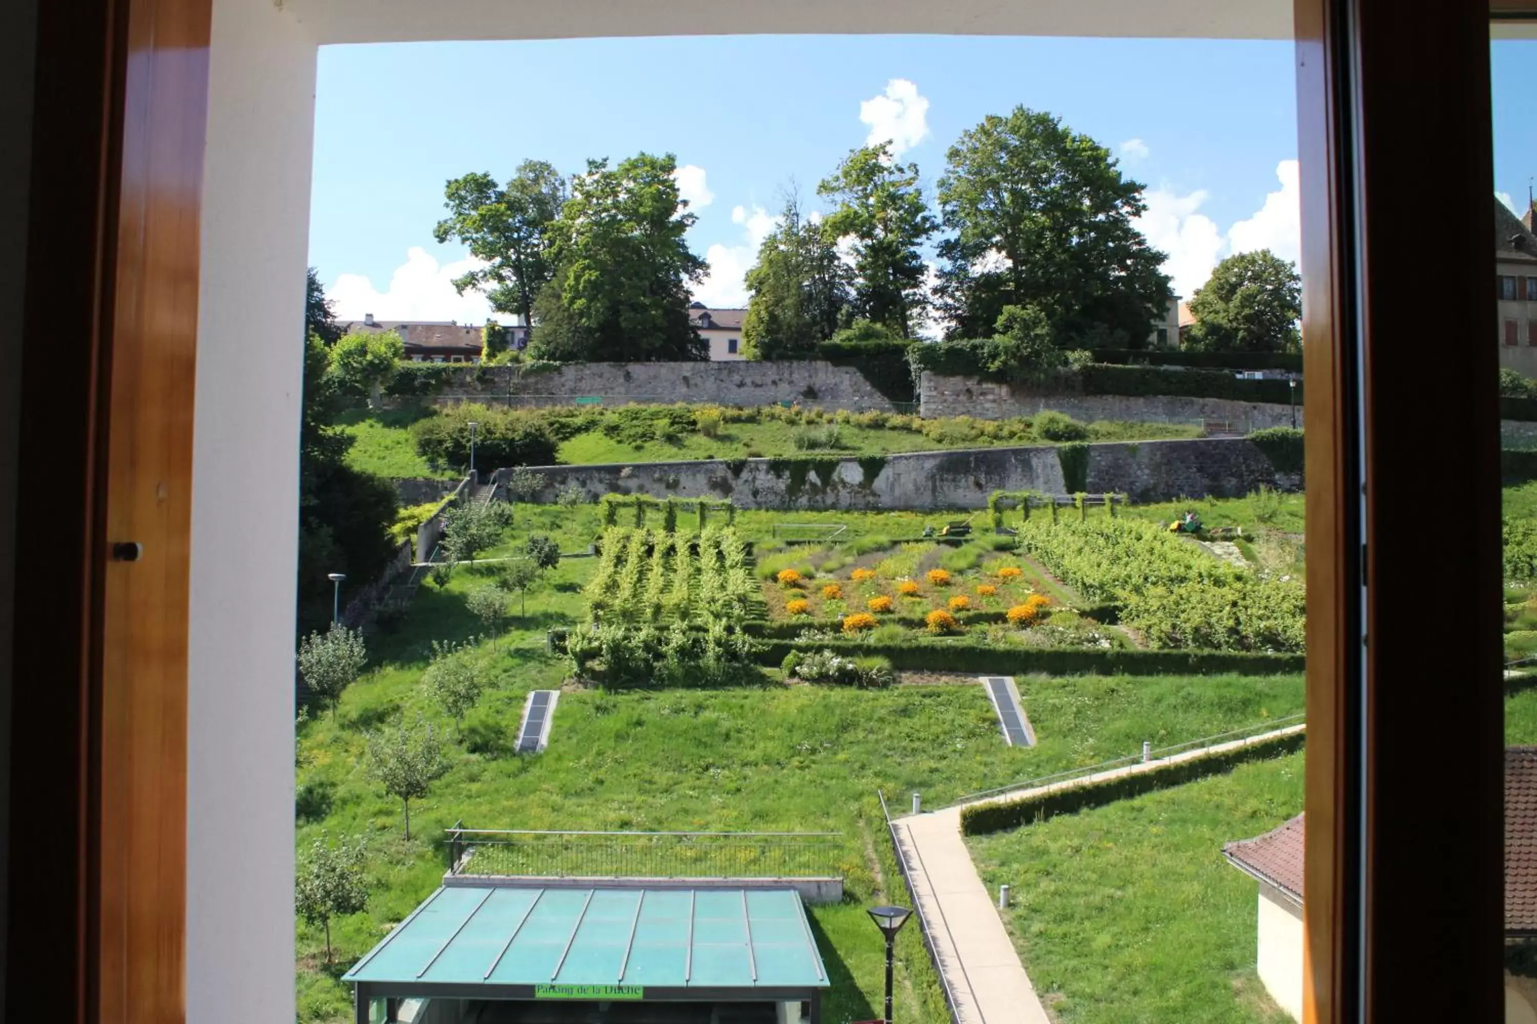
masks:
[[[1240,438],[1087,445],[1084,490],[1128,494],[1134,502],[1176,497],[1237,497],[1260,484],[1296,490],[1296,474],[1277,473]],[[884,459],[709,459],[633,465],[553,465],[532,470],[553,502],[572,484],[587,497],[729,497],[739,508],[985,508],[996,490],[1064,494],[1059,448],[964,448]]]

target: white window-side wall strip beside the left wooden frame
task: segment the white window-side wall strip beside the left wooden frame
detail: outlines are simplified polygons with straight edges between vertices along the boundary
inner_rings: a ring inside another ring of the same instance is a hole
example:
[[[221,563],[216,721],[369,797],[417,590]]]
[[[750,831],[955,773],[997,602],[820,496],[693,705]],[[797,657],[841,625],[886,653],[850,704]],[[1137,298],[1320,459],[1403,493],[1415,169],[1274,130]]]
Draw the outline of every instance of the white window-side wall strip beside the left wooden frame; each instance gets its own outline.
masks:
[[[315,43],[215,0],[188,694],[188,1021],[294,1019],[294,574]]]

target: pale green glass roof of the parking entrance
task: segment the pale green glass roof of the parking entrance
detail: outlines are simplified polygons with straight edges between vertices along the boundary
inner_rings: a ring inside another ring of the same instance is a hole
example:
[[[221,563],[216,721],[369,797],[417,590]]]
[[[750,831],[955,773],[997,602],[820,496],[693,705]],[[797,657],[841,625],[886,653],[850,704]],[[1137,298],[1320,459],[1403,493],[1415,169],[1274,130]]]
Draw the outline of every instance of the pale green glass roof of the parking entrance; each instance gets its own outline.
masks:
[[[756,976],[755,976],[756,975]],[[795,890],[447,886],[347,981],[825,987]]]

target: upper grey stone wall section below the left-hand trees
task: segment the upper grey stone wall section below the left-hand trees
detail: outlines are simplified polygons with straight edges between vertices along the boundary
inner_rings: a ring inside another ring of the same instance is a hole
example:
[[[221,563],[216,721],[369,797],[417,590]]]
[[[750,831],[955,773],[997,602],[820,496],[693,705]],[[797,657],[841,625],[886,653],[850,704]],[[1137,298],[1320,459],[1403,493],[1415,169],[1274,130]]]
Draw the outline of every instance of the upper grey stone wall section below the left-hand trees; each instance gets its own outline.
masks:
[[[858,368],[822,361],[583,362],[533,375],[521,375],[515,365],[464,367],[435,401],[506,401],[509,396],[520,405],[569,405],[578,398],[601,398],[604,405],[795,401],[818,408],[895,408]]]

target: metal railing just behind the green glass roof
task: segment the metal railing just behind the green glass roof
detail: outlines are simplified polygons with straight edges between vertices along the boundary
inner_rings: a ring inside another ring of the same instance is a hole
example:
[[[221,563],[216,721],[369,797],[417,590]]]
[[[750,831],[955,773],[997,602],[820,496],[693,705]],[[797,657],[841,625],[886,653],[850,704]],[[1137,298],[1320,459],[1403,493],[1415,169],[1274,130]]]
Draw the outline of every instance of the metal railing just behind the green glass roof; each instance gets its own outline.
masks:
[[[839,832],[446,829],[450,874],[538,878],[835,878]]]

